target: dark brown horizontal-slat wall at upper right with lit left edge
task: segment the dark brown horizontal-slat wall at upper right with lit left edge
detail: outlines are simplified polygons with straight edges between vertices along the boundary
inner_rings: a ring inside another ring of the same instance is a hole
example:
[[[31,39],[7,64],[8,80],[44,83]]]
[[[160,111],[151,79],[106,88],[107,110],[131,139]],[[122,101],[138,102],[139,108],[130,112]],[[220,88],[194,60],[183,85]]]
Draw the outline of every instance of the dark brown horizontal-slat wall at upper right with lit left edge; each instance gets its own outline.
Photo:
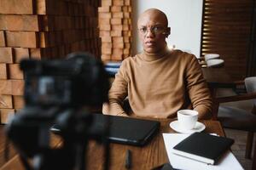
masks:
[[[217,53],[235,80],[246,77],[253,0],[204,0],[201,56]]]

